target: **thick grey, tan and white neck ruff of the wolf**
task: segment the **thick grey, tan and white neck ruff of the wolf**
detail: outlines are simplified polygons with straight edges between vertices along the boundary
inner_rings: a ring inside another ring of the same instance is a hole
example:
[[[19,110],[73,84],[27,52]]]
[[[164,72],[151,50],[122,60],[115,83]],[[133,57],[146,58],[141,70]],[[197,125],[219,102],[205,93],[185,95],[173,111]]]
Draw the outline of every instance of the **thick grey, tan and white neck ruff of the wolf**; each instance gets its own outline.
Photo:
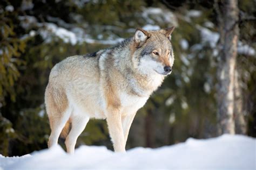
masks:
[[[163,82],[163,75],[156,72],[143,73],[137,68],[140,51],[136,51],[132,38],[109,50],[114,60],[113,67],[120,72],[134,95],[149,97]]]

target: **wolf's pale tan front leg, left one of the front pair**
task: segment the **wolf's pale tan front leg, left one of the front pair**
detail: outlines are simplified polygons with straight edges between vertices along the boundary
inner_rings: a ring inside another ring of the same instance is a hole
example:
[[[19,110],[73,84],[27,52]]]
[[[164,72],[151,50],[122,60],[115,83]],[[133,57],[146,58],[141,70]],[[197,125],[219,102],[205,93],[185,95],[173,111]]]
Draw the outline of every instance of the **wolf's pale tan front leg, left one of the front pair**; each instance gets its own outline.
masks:
[[[125,139],[122,128],[121,113],[118,109],[111,109],[107,114],[107,125],[115,152],[125,152]]]

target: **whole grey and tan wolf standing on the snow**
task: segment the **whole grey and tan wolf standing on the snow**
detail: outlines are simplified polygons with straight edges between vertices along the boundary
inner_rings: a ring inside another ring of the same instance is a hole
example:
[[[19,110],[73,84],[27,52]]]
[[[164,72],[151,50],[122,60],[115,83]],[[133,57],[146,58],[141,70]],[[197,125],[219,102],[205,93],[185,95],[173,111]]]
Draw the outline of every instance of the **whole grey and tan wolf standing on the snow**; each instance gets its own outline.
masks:
[[[106,119],[115,152],[125,152],[136,112],[171,74],[174,27],[137,29],[115,47],[76,55],[57,63],[45,90],[51,134],[48,146],[65,138],[73,153],[90,118]]]

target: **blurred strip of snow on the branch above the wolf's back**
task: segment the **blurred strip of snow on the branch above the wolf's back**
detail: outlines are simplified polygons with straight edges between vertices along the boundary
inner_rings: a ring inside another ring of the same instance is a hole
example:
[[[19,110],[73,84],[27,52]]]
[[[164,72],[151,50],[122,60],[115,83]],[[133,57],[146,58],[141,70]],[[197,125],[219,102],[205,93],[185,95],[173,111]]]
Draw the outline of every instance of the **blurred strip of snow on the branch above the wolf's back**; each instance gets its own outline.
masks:
[[[33,37],[38,33],[44,39],[45,43],[51,42],[52,39],[56,37],[63,40],[63,42],[70,43],[72,45],[83,42],[87,42],[89,44],[97,43],[104,45],[116,45],[124,40],[116,35],[111,35],[105,40],[92,39],[82,27],[76,27],[75,25],[65,23],[62,19],[56,17],[48,16],[47,19],[50,22],[55,22],[57,24],[47,22],[39,23],[33,16],[19,16],[19,20],[21,20],[21,25],[24,29],[29,30],[34,26],[39,28],[38,31],[33,30],[29,34],[25,34],[22,39]],[[106,26],[106,29],[110,29],[110,27],[111,29],[117,29],[116,27],[113,28],[113,26]],[[156,28],[156,26],[154,28]]]

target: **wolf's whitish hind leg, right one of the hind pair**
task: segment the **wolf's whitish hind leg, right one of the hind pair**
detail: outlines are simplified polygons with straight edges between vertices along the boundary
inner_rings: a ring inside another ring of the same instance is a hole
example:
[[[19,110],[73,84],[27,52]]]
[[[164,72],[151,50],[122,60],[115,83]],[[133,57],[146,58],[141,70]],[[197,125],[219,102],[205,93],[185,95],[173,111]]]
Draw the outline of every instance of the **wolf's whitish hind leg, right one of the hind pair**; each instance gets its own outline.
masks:
[[[71,116],[72,128],[65,140],[66,152],[71,154],[75,152],[77,138],[85,129],[89,119],[90,117],[84,117],[80,115]]]

